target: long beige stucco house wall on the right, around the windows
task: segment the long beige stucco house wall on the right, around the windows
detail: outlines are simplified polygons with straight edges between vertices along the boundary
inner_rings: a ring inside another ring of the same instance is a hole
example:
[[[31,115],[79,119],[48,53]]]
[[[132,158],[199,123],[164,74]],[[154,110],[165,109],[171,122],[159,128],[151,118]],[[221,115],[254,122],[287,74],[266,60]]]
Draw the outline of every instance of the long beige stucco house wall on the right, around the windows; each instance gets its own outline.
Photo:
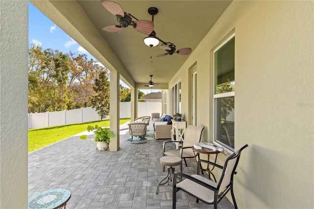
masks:
[[[314,1],[234,1],[193,49],[169,87],[181,79],[188,104],[188,69],[197,63],[197,125],[207,141],[211,50],[233,30],[235,149],[249,145],[235,175],[238,207],[314,208]]]

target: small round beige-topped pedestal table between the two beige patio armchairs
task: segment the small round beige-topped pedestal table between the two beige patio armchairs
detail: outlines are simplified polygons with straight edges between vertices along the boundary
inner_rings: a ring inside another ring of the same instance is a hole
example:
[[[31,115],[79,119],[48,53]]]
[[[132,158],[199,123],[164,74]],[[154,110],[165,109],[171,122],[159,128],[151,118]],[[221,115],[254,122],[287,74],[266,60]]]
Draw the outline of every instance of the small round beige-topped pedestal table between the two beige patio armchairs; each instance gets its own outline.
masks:
[[[167,166],[167,175],[162,180],[160,180],[160,182],[158,182],[157,188],[156,188],[156,194],[159,193],[159,186],[167,186],[167,185],[170,185],[169,181],[172,182],[173,174],[175,173],[175,168],[172,166],[177,166],[177,165],[182,166],[182,158],[181,157],[164,156],[164,157],[160,157],[159,161],[160,161],[161,165]],[[165,181],[165,182],[163,182],[163,181]],[[166,183],[167,183],[167,185],[164,185]]]

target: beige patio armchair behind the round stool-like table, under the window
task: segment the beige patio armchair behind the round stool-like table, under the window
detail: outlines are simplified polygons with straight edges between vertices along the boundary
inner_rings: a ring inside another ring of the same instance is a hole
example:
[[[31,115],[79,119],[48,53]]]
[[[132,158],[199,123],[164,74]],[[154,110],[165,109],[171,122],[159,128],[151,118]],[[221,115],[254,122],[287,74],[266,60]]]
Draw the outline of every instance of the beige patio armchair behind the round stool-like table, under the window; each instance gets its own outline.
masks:
[[[163,147],[162,147],[163,156],[181,157],[182,159],[184,159],[185,166],[187,167],[185,158],[195,157],[192,147],[195,143],[198,143],[201,141],[203,130],[204,130],[204,127],[192,126],[192,125],[187,126],[184,136],[183,136],[183,141],[178,141],[178,143],[181,143],[181,148],[178,150],[177,149],[166,150],[166,144],[169,142],[174,143],[174,141],[165,141],[163,142]],[[164,171],[164,167],[163,167],[163,171]]]

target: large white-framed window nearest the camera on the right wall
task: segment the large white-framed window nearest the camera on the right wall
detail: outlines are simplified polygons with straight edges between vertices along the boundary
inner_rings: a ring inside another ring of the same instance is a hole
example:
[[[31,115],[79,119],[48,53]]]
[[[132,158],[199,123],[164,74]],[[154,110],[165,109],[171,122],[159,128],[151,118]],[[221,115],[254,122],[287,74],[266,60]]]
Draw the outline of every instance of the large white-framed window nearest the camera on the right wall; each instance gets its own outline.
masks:
[[[214,51],[214,142],[235,148],[235,35]]]

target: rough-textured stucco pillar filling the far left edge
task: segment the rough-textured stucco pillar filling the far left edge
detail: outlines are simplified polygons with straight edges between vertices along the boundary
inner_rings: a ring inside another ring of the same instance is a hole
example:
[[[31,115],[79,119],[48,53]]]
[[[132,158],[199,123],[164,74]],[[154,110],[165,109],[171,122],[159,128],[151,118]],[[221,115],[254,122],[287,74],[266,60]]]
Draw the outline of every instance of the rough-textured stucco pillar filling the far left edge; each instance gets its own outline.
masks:
[[[0,1],[0,209],[27,207],[27,14]]]

